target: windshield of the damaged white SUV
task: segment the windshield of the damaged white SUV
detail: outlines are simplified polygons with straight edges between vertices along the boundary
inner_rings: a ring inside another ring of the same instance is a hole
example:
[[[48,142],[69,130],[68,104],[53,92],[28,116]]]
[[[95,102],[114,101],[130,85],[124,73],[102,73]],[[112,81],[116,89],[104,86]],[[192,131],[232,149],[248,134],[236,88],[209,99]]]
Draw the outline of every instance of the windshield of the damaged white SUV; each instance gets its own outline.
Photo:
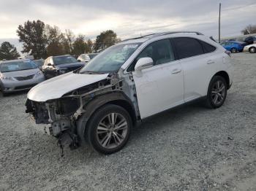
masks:
[[[86,71],[99,73],[118,71],[140,44],[141,43],[117,44],[109,47],[84,66],[83,69],[80,70],[80,73]]]

